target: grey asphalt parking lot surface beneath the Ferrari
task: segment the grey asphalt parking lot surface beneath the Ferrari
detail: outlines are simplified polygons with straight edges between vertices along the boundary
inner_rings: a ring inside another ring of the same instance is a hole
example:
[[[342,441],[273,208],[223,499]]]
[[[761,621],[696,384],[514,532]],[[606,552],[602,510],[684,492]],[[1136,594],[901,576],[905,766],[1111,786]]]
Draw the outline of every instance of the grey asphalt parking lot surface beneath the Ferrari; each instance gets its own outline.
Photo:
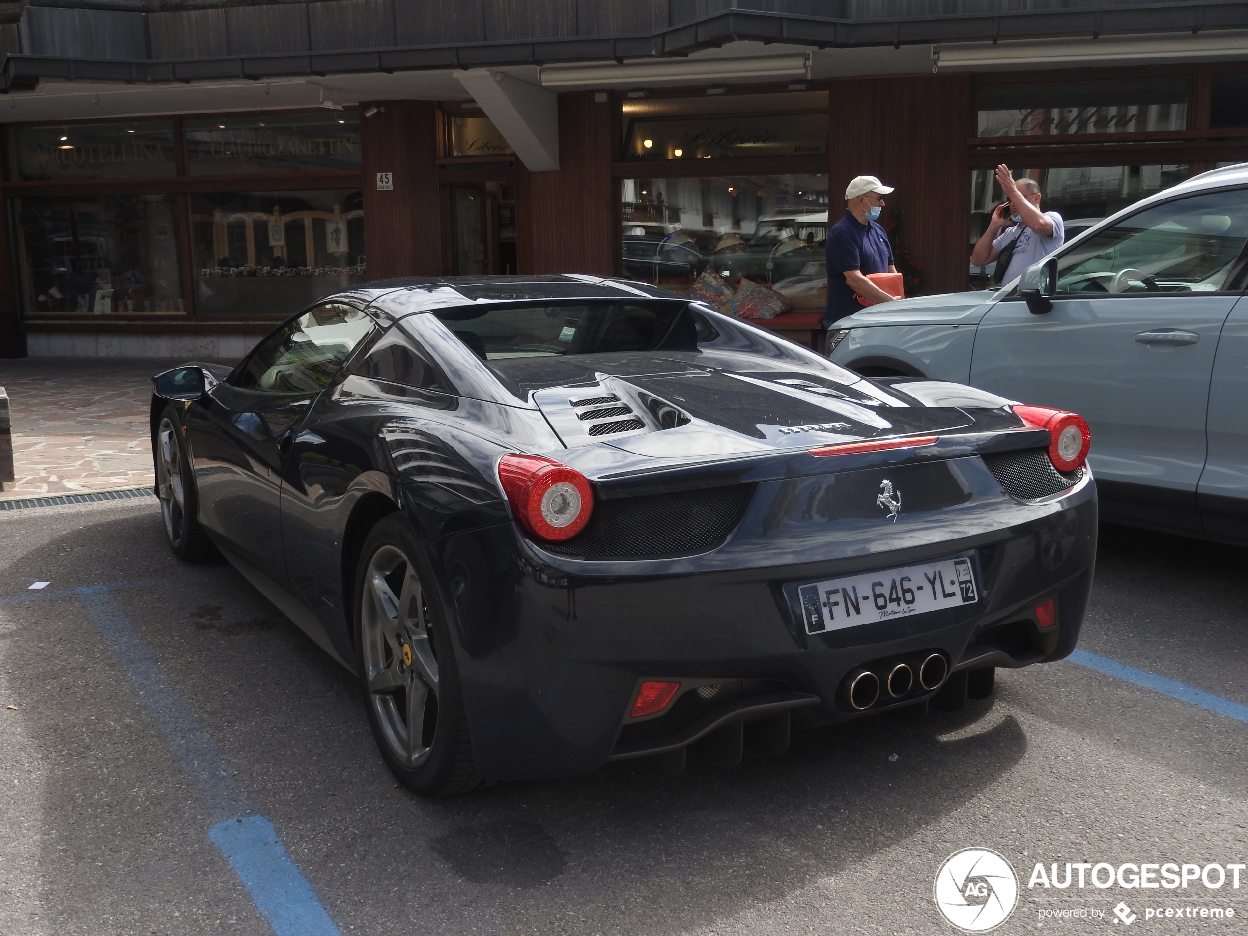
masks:
[[[1248,705],[1246,559],[1103,529],[1081,648]],[[1027,887],[1033,862],[1243,862],[1233,705],[1072,661],[997,686],[920,723],[802,733],[736,770],[623,763],[427,801],[383,766],[353,678],[227,565],[173,559],[155,499],[9,510],[0,934],[273,932],[261,906],[308,934],[955,932],[932,881],[970,846],[1020,875],[998,932],[1092,931],[1119,901],[1132,930],[1248,931],[1248,875]],[[290,859],[276,885],[210,837],[258,816]],[[1162,906],[1238,916],[1144,919]],[[1076,914],[1041,920],[1053,907]]]

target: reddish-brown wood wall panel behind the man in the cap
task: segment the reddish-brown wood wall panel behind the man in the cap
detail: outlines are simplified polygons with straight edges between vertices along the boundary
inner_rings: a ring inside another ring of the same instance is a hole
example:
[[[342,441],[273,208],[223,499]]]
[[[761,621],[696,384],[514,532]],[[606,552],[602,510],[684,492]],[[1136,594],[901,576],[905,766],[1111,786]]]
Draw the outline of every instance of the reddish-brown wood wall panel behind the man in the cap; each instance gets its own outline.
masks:
[[[855,176],[879,176],[897,191],[901,240],[922,263],[924,292],[967,288],[972,136],[968,75],[844,79],[829,95],[831,216],[844,210]]]

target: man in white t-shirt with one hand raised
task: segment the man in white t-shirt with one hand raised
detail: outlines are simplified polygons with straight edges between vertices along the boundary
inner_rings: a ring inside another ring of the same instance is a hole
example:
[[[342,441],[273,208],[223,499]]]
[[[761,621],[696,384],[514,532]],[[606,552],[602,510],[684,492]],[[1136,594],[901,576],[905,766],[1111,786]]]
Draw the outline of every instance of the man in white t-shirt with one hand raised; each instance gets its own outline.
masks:
[[[1010,201],[992,212],[983,236],[971,251],[971,266],[986,267],[1002,253],[1008,253],[1005,268],[998,262],[992,276],[993,282],[1008,283],[1061,247],[1066,231],[1061,215],[1056,211],[1041,212],[1040,185],[1035,178],[1015,180],[1005,163],[997,166],[996,175],[997,185]]]

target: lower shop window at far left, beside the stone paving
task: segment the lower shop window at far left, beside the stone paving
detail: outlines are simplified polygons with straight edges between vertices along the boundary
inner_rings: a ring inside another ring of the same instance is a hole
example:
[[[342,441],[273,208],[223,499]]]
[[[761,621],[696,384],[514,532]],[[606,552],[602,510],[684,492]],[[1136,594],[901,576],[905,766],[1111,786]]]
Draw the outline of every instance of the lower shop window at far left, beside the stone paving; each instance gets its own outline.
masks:
[[[12,198],[27,312],[183,312],[170,195]]]

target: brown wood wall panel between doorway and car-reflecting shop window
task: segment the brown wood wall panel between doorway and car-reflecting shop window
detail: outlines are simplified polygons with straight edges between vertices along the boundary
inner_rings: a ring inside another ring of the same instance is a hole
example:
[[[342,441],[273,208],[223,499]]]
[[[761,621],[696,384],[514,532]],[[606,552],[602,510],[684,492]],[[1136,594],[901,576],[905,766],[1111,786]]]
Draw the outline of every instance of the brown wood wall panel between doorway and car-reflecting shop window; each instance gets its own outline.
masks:
[[[517,163],[519,272],[615,275],[613,112],[589,94],[559,95],[559,171],[529,172]]]

